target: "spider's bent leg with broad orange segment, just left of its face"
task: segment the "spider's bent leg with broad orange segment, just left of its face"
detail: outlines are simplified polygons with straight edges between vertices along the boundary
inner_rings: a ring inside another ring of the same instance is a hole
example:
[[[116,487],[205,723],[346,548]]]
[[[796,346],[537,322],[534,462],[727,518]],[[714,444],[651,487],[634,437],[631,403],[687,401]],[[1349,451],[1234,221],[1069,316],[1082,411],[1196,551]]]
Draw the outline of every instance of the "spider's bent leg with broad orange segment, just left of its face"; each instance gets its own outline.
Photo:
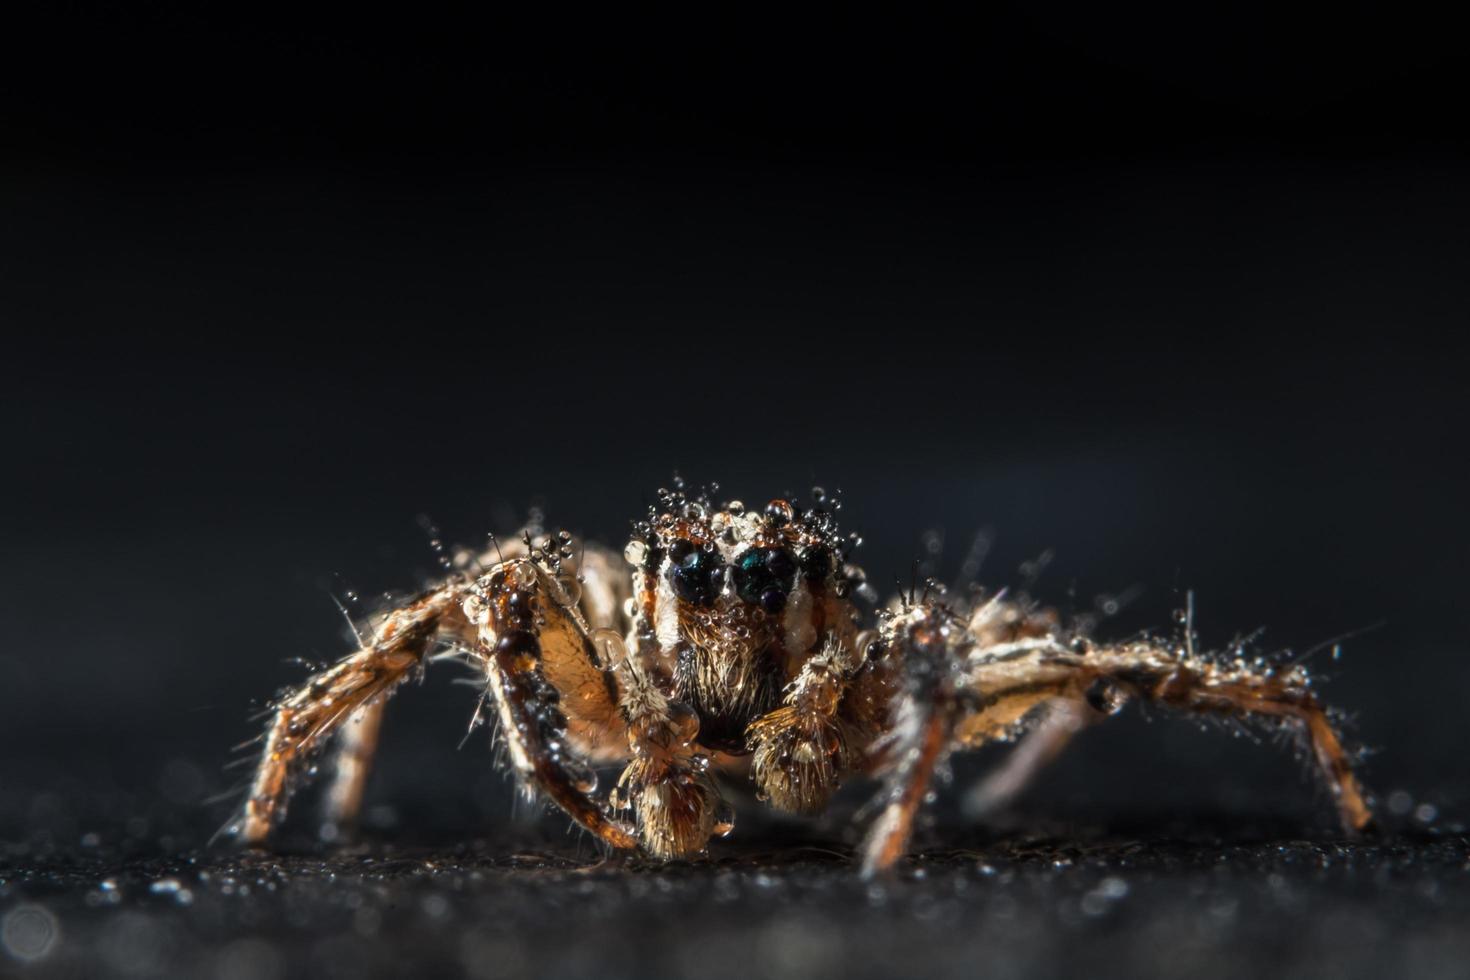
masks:
[[[575,598],[532,558],[510,558],[465,601],[478,629],[488,696],[510,763],[528,793],[542,793],[614,848],[638,839],[592,793],[585,760],[626,757],[617,682]]]

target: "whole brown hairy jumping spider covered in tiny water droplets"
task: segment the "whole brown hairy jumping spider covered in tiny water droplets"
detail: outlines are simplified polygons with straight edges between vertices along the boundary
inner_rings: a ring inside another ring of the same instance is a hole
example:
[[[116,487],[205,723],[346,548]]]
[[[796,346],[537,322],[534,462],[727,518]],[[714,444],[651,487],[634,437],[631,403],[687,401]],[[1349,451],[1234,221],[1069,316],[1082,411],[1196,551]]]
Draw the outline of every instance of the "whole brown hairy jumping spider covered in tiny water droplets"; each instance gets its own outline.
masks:
[[[1025,735],[979,788],[992,808],[1127,701],[1298,733],[1345,830],[1370,824],[1299,663],[1197,652],[1192,621],[1175,642],[1098,642],[1023,597],[953,601],[933,583],[864,627],[857,599],[873,591],[850,561],[856,538],[838,532],[838,501],[747,508],[716,502],[716,489],[659,491],[623,551],[631,574],[566,532],[525,533],[388,611],[357,651],[275,702],[231,829],[265,843],[329,742],[328,815],[350,824],[388,695],[445,646],[482,671],[482,707],[522,789],[612,848],[659,860],[732,830],[717,774],[795,814],[870,776],[882,789],[860,860],[878,873],[906,852],[950,754]],[[610,765],[622,774],[600,795],[595,767]]]

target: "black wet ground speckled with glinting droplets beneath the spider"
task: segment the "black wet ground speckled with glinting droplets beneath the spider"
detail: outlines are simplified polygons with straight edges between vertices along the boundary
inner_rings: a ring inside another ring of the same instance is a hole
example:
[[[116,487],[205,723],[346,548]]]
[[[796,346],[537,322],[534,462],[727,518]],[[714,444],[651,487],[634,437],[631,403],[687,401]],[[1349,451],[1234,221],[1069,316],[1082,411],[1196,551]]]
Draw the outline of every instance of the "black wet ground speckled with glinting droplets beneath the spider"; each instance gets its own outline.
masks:
[[[1201,829],[1204,826],[1205,829]],[[782,829],[709,860],[578,842],[288,855],[12,843],[0,974],[24,977],[1463,977],[1470,836],[1367,842],[1208,820],[989,832],[864,882]],[[933,842],[931,840],[931,845]]]

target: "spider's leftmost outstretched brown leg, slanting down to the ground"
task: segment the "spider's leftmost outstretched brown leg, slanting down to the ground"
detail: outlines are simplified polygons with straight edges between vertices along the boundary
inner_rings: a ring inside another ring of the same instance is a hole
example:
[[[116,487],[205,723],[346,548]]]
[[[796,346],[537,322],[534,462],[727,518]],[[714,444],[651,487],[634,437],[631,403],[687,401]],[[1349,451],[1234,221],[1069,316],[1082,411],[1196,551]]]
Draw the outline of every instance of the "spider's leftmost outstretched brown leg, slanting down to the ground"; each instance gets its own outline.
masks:
[[[348,718],[381,710],[382,699],[423,663],[440,632],[457,620],[462,589],[459,583],[444,586],[394,610],[372,642],[309,677],[276,704],[240,826],[247,843],[270,836],[307,760]],[[356,745],[348,749],[350,782],[359,783],[353,792],[360,795],[372,748],[369,742]]]

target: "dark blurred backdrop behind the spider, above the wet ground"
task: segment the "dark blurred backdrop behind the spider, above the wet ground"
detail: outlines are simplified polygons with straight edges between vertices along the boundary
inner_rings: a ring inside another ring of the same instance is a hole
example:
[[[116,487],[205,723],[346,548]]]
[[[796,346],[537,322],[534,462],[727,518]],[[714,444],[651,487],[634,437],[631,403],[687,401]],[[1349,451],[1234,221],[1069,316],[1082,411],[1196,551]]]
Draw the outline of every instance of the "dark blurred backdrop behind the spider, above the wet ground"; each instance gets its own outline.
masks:
[[[1050,554],[1038,595],[1126,599],[1105,635],[1186,589],[1205,645],[1379,624],[1327,698],[1398,818],[1463,820],[1455,35],[986,10],[7,29],[0,832],[200,843],[291,660],[348,648],[334,597],[434,574],[426,523],[620,542],[676,470],[841,489],[882,586],[988,529],[985,582]],[[392,705],[388,833],[509,820],[454,676]],[[1023,807],[1332,827],[1288,754],[1136,711]]]

